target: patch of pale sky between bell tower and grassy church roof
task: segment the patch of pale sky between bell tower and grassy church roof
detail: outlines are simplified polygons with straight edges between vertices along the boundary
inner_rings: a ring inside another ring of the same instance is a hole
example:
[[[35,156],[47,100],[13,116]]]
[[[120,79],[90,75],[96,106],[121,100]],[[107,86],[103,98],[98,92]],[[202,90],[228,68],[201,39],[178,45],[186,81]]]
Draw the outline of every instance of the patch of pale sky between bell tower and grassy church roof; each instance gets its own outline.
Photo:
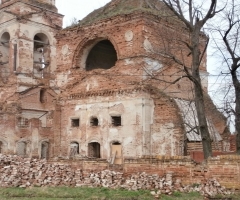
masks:
[[[78,20],[85,17],[95,9],[98,9],[111,0],[56,0],[58,12],[65,15],[63,27],[71,23],[75,17]]]

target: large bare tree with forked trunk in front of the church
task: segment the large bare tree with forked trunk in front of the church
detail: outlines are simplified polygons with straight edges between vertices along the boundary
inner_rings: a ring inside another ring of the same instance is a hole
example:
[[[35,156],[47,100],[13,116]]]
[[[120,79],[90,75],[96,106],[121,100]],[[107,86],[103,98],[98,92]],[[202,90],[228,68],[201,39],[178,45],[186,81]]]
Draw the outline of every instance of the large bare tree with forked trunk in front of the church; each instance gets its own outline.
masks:
[[[206,53],[208,42],[202,48],[201,38],[203,37],[203,27],[208,20],[213,18],[219,11],[216,10],[217,0],[211,0],[209,4],[205,1],[194,0],[163,0],[165,5],[177,16],[185,25],[189,33],[189,41],[182,41],[189,50],[191,64],[188,66],[184,60],[171,55],[178,65],[182,66],[186,77],[194,85],[194,100],[196,105],[199,131],[202,137],[204,158],[212,156],[211,138],[204,106],[204,90],[201,84],[200,65]],[[203,49],[203,50],[202,50]]]

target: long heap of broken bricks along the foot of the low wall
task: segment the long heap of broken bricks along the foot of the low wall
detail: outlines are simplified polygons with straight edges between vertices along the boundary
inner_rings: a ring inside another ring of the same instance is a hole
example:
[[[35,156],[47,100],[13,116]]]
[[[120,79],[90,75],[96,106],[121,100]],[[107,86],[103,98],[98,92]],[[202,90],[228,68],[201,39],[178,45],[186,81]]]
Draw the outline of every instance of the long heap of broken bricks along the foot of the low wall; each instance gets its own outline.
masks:
[[[123,173],[103,170],[101,172],[83,173],[67,164],[47,163],[46,160],[21,158],[0,154],[0,187],[29,186],[73,186],[73,187],[107,187],[127,190],[150,190],[158,197],[171,195],[174,191],[200,192],[204,196],[217,194],[228,195],[230,191],[222,187],[216,179],[209,179],[201,184],[184,186],[180,179],[173,181],[172,173],[165,177],[145,172],[132,174],[125,178]]]

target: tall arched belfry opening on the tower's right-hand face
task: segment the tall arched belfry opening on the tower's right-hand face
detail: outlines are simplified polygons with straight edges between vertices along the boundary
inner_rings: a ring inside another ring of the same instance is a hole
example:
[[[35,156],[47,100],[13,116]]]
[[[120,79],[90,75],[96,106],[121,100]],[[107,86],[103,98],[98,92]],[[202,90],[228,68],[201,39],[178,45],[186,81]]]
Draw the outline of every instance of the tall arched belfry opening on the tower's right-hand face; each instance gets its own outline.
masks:
[[[37,78],[44,78],[49,73],[50,46],[47,36],[38,33],[34,36],[33,45],[33,74]]]

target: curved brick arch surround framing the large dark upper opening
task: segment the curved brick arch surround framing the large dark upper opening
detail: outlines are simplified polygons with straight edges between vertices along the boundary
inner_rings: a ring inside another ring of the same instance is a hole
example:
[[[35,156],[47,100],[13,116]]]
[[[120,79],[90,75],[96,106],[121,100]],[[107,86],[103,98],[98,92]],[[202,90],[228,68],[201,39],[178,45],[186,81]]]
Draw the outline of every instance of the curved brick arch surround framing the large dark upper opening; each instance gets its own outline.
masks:
[[[116,52],[116,62],[119,59],[119,49],[115,40],[111,37],[84,38],[77,46],[73,56],[73,68],[86,68],[86,62],[90,51],[101,41],[109,41]]]

